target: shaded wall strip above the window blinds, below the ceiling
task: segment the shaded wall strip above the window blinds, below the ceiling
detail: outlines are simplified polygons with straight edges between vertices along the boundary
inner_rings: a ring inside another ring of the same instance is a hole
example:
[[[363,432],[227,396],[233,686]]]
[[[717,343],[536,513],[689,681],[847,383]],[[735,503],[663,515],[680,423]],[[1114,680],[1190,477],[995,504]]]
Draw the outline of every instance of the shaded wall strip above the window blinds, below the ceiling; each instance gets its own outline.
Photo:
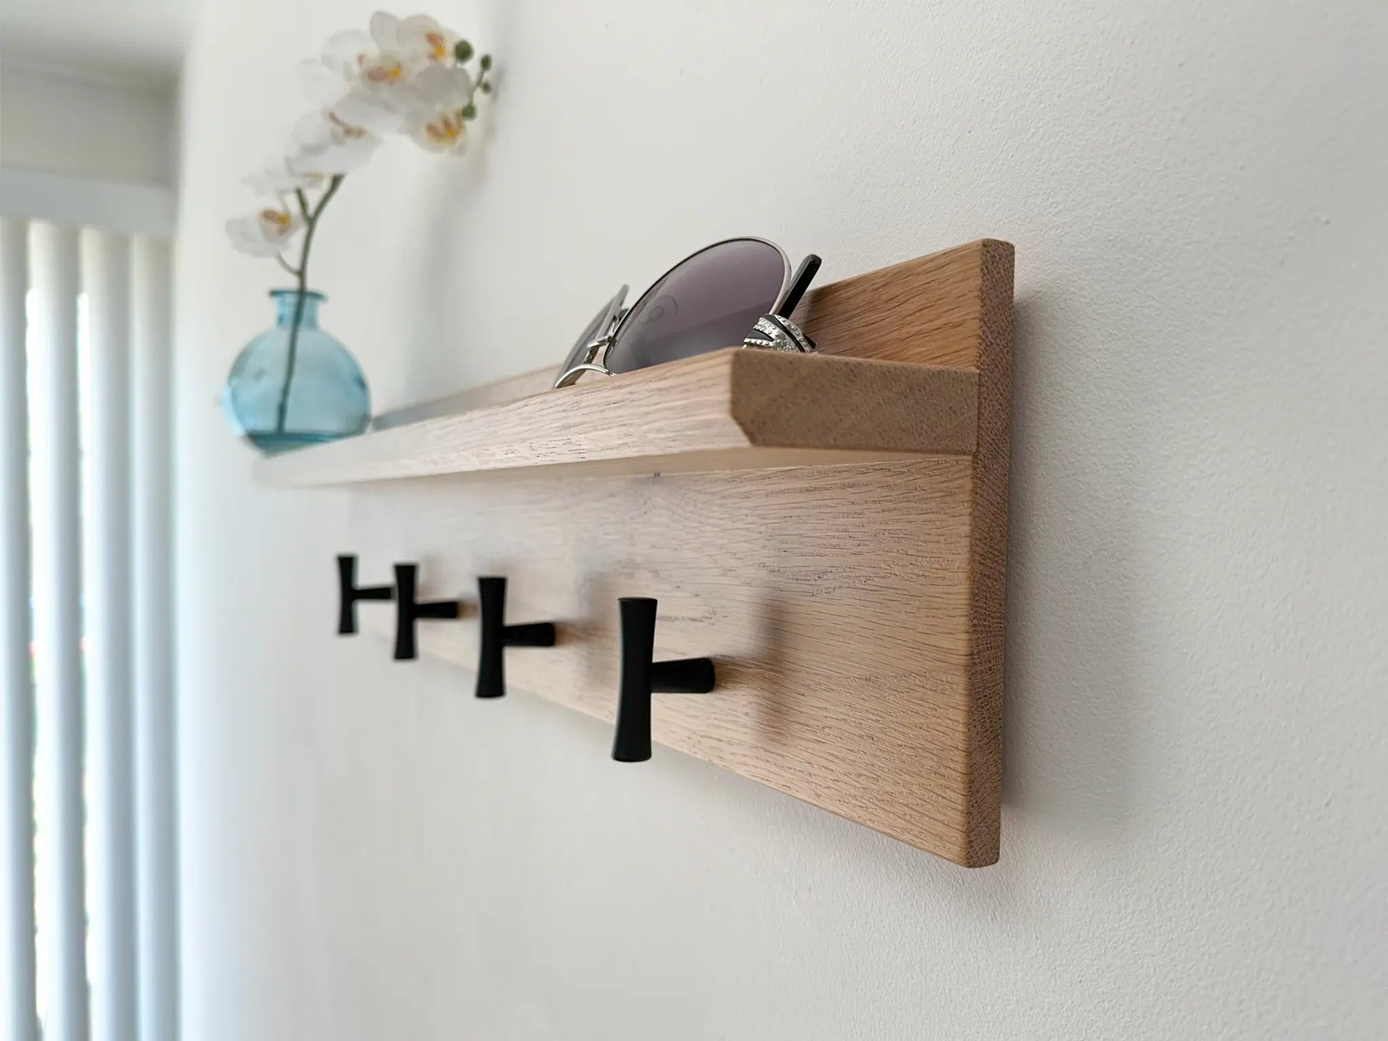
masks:
[[[0,162],[129,185],[174,180],[169,87],[97,82],[61,67],[0,65]]]

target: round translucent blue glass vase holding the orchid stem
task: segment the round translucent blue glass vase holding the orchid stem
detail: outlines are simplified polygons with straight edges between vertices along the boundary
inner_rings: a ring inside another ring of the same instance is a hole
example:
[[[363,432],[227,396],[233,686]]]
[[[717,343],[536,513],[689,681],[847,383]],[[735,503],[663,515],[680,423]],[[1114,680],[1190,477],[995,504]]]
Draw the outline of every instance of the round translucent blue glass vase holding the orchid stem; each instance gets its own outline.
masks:
[[[326,297],[310,290],[300,301],[297,289],[269,296],[275,326],[242,348],[222,391],[232,429],[266,455],[359,434],[371,421],[371,391],[357,359],[318,328]]]

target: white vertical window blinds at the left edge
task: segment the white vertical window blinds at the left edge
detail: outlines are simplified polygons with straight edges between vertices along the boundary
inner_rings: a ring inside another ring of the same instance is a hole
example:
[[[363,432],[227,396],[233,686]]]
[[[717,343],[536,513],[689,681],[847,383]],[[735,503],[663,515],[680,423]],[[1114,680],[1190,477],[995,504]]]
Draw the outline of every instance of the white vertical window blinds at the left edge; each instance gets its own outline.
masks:
[[[0,1041],[178,1030],[162,237],[0,218]]]

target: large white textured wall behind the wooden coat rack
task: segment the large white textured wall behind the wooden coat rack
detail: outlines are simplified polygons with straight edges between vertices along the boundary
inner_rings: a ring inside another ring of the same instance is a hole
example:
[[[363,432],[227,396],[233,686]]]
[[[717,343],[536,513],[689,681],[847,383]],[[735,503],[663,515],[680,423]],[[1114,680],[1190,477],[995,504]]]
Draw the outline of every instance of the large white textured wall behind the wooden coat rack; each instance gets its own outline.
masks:
[[[1016,243],[972,873],[329,636],[346,500],[254,489],[212,404],[279,282],[221,223],[369,10],[211,0],[186,67],[185,1035],[1378,1035],[1388,10],[446,0],[504,69],[490,140],[335,203],[314,282],[378,407],[557,364],[729,233],[826,282]]]

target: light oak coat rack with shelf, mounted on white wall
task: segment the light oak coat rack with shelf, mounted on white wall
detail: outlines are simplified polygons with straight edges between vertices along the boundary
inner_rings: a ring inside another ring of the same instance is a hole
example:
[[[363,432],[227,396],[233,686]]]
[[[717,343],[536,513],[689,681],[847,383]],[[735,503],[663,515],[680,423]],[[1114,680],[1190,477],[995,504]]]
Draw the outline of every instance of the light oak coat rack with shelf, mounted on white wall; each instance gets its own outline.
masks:
[[[351,484],[380,579],[419,561],[422,593],[473,600],[505,576],[508,613],[558,636],[507,651],[509,688],[600,719],[618,597],[658,598],[658,655],[718,665],[712,693],[655,700],[658,744],[994,863],[1012,247],[844,279],[797,318],[819,357],[729,348],[557,391],[545,369],[260,479]],[[476,629],[465,611],[421,651],[472,669]]]

